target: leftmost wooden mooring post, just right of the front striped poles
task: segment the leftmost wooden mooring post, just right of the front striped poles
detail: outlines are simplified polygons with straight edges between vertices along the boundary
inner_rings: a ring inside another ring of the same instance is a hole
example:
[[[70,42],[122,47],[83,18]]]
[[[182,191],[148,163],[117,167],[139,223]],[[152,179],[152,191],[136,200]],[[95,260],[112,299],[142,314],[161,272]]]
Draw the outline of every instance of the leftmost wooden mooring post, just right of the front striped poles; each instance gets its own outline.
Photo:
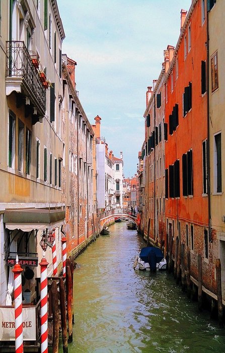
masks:
[[[52,295],[52,314],[53,314],[53,340],[52,353],[58,353],[58,339],[59,339],[59,315],[58,315],[58,290],[56,281],[52,281],[51,286]]]

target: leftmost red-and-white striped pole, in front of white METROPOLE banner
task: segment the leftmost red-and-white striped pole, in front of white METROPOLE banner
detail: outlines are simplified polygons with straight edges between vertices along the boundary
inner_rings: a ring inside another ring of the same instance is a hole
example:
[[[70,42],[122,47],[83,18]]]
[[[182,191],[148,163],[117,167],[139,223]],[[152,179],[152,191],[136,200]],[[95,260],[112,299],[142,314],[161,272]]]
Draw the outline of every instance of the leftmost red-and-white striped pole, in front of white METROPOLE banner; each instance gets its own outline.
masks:
[[[14,301],[15,301],[15,352],[23,353],[23,316],[22,316],[22,280],[21,272],[23,269],[19,264],[18,255],[16,265],[12,270],[14,272]]]

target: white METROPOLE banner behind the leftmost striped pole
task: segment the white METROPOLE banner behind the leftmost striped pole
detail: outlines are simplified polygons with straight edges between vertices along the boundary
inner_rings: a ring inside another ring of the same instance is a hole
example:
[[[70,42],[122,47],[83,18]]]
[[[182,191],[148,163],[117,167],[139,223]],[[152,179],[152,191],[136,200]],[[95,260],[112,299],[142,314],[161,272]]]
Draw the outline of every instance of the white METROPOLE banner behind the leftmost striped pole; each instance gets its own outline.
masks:
[[[36,307],[23,308],[23,340],[36,340]],[[15,309],[0,307],[0,341],[15,341]]]

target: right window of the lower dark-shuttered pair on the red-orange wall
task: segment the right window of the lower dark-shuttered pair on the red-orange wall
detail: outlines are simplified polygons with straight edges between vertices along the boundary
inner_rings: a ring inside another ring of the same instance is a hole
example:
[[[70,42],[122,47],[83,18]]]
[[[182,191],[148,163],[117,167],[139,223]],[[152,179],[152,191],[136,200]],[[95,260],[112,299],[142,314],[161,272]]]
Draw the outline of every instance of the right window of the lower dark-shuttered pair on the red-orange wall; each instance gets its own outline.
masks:
[[[193,195],[192,150],[182,156],[183,196]]]

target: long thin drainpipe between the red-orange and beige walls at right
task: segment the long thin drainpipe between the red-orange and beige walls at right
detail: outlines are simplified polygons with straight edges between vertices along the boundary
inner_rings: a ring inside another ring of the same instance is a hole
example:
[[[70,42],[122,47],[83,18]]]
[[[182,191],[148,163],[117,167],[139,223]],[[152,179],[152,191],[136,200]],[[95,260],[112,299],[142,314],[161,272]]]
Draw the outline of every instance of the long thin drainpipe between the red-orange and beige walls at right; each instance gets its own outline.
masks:
[[[206,15],[206,30],[207,30],[207,192],[208,192],[208,238],[211,239],[211,188],[210,188],[210,112],[209,112],[209,30],[208,30],[208,11]]]

